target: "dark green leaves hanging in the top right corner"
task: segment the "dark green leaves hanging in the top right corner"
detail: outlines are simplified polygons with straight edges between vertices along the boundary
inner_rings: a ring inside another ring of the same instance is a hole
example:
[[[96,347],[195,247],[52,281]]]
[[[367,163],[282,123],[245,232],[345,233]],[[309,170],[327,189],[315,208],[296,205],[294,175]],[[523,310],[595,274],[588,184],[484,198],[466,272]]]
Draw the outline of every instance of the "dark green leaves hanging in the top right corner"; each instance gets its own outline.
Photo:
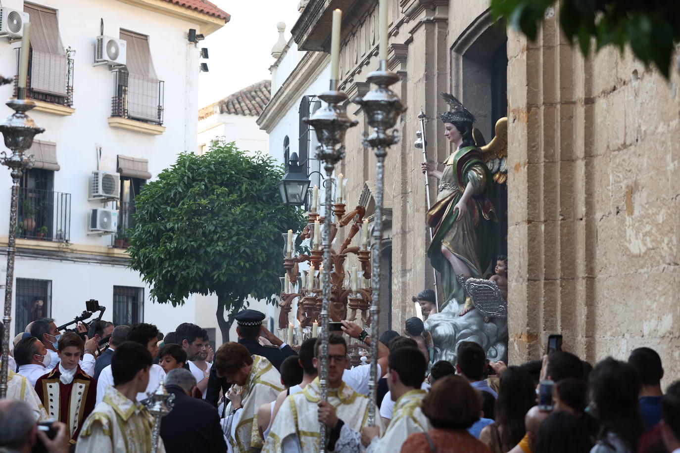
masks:
[[[491,0],[494,18],[505,17],[509,25],[532,41],[548,7],[556,0]],[[562,0],[560,25],[566,37],[578,41],[583,55],[614,45],[619,50],[630,43],[633,54],[649,66],[652,63],[668,77],[670,58],[680,43],[680,1],[678,0]]]

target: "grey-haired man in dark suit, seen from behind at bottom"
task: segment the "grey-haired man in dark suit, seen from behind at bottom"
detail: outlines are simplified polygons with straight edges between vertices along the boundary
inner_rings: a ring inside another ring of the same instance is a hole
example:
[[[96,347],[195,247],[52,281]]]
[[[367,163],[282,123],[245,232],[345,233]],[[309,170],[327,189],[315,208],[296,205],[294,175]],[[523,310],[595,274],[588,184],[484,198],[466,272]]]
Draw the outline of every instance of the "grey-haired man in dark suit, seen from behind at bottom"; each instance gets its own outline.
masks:
[[[191,397],[196,378],[188,370],[171,370],[165,378],[165,389],[175,395],[173,409],[163,417],[160,437],[167,453],[226,452],[226,441],[217,410]]]

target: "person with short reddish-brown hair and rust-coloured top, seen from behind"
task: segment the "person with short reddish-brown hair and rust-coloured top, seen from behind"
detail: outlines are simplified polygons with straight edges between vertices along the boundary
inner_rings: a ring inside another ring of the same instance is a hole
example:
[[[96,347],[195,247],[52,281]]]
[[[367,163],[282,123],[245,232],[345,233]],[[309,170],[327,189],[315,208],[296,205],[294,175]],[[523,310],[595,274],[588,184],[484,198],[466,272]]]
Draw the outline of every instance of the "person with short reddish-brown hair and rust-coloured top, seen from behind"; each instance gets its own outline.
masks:
[[[481,397],[466,379],[451,374],[437,380],[422,403],[434,429],[409,435],[401,452],[489,453],[467,432],[479,420],[480,411]]]

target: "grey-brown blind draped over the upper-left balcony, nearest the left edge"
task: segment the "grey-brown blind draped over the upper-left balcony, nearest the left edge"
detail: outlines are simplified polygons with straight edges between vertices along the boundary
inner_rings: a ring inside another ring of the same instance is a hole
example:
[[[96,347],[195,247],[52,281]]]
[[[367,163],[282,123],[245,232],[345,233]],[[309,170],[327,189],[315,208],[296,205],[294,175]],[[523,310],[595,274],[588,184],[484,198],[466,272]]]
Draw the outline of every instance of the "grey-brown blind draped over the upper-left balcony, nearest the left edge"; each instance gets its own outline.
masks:
[[[24,4],[24,12],[31,21],[31,89],[66,96],[69,65],[56,11]]]

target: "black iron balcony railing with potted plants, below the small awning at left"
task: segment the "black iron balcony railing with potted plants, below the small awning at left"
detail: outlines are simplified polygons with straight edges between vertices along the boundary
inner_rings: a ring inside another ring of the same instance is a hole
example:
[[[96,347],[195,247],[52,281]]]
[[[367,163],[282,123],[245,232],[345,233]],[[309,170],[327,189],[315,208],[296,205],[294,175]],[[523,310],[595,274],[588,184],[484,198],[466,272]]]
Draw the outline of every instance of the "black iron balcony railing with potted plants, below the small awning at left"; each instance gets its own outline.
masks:
[[[20,187],[17,220],[20,238],[69,242],[71,194]]]

